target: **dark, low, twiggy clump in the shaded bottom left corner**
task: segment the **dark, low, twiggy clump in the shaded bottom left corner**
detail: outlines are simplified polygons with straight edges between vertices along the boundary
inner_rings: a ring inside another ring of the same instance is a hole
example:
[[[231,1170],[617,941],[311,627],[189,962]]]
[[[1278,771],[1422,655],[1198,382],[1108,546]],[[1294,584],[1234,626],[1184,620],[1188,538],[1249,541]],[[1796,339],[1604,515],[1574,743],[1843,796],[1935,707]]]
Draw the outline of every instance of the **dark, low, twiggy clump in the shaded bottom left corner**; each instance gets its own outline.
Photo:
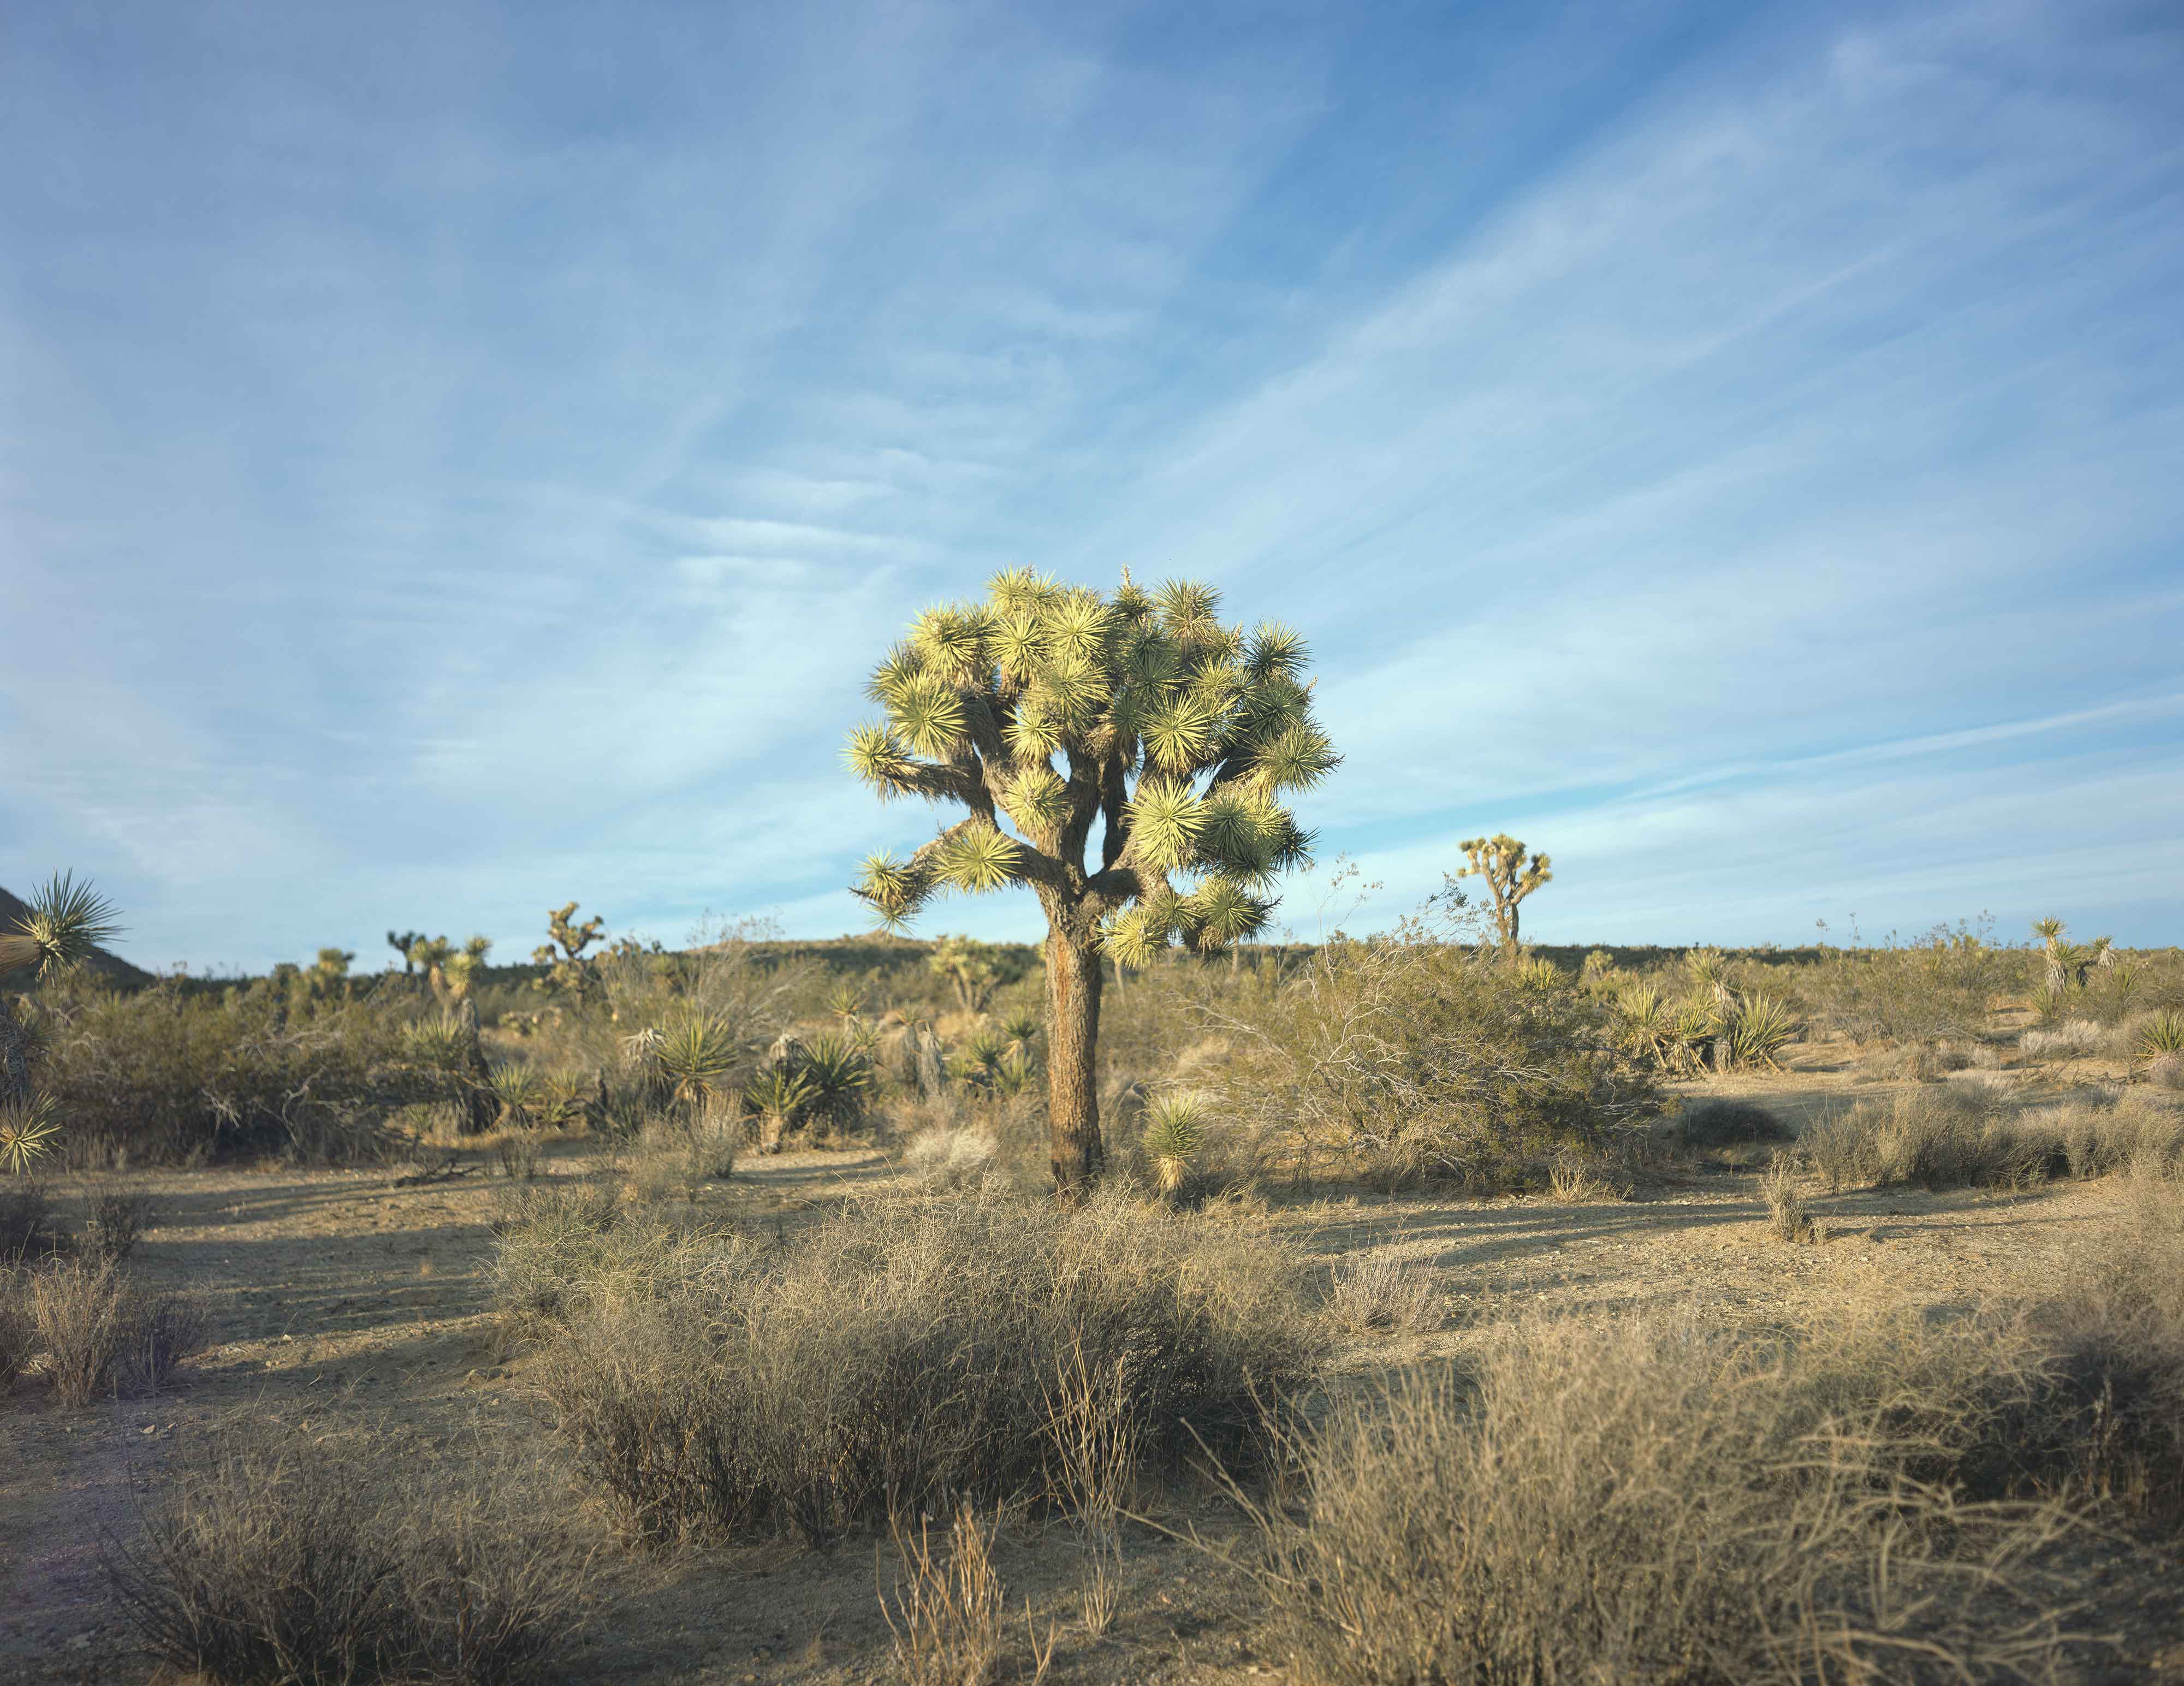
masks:
[[[507,1511],[507,1513],[502,1513]],[[186,1461],[105,1566],[146,1649],[229,1686],[513,1686],[570,1640],[585,1568],[476,1487],[371,1492],[356,1450],[229,1437]]]

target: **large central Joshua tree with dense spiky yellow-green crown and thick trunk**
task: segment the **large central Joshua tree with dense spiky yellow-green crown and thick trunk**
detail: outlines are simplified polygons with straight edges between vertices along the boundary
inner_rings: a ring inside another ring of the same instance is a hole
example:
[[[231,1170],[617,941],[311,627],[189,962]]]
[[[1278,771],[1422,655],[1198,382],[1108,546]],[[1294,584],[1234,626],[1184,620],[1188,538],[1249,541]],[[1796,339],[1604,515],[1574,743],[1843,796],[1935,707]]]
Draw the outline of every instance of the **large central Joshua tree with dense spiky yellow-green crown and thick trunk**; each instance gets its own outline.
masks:
[[[1105,1162],[1101,952],[1144,965],[1175,941],[1216,952],[1260,930],[1310,845],[1280,799],[1341,760],[1313,721],[1304,640],[1223,627],[1216,605],[1206,585],[1149,594],[1127,572],[1112,596],[998,574],[985,601],[913,622],[871,675],[887,719],[850,736],[882,797],[970,810],[909,860],[865,860],[856,893],[891,928],[941,889],[1040,898],[1048,1147],[1070,1197]]]

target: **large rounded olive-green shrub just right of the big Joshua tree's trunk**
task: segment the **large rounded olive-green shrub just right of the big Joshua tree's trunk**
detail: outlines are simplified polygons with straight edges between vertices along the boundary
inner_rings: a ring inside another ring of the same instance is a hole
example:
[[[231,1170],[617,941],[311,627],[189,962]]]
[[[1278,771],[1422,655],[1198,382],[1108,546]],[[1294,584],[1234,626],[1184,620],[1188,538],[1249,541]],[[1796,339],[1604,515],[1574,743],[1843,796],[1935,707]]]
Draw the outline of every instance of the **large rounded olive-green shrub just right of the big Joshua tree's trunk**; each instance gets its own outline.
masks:
[[[1538,1184],[1660,1107],[1607,1007],[1459,941],[1448,919],[1337,939],[1289,976],[1197,1005],[1197,1072],[1269,1166],[1470,1190]]]

